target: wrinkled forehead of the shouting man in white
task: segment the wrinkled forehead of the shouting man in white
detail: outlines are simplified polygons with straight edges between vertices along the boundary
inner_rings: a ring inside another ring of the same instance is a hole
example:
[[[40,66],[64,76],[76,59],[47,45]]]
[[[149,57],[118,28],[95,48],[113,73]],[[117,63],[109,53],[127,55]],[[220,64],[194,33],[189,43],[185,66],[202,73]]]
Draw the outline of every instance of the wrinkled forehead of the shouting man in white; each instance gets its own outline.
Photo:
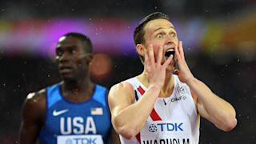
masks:
[[[174,29],[174,25],[166,19],[154,19],[146,23],[144,30],[146,33],[153,33],[158,29]],[[175,30],[175,29],[174,29]]]

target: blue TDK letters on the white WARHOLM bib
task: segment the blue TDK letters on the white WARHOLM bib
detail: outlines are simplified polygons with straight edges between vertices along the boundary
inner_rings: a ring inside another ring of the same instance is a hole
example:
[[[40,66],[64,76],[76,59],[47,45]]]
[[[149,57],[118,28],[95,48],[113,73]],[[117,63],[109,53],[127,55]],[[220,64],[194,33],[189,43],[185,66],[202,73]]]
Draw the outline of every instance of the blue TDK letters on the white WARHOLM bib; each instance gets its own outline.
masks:
[[[182,129],[183,123],[158,123],[161,131],[183,131]]]

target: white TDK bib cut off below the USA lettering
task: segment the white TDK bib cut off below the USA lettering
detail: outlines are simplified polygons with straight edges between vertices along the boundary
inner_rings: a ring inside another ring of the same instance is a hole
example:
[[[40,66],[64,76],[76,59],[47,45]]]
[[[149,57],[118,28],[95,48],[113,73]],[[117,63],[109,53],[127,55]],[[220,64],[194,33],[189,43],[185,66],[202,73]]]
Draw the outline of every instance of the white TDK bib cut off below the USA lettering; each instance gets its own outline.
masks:
[[[57,144],[103,144],[102,135],[58,135]]]

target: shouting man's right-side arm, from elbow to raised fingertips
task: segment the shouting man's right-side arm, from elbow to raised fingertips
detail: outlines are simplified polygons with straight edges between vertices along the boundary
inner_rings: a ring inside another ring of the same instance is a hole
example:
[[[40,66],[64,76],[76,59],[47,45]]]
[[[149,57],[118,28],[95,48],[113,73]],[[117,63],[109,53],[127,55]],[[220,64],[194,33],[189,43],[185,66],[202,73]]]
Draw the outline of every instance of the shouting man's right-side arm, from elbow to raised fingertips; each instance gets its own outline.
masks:
[[[175,47],[175,56],[178,60],[178,78],[190,86],[192,94],[198,98],[198,113],[203,118],[213,122],[215,126],[224,131],[229,131],[237,124],[235,110],[229,102],[215,95],[208,86],[194,78],[186,64],[182,50],[182,42]]]

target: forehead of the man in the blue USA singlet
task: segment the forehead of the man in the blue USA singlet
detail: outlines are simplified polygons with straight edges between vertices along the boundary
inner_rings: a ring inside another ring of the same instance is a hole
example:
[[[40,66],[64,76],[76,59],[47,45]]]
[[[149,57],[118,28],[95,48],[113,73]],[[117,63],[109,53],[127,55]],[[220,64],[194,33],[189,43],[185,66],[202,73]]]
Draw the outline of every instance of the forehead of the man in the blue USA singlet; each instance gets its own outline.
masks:
[[[82,41],[79,38],[63,36],[58,39],[57,47],[66,46],[82,46]]]

